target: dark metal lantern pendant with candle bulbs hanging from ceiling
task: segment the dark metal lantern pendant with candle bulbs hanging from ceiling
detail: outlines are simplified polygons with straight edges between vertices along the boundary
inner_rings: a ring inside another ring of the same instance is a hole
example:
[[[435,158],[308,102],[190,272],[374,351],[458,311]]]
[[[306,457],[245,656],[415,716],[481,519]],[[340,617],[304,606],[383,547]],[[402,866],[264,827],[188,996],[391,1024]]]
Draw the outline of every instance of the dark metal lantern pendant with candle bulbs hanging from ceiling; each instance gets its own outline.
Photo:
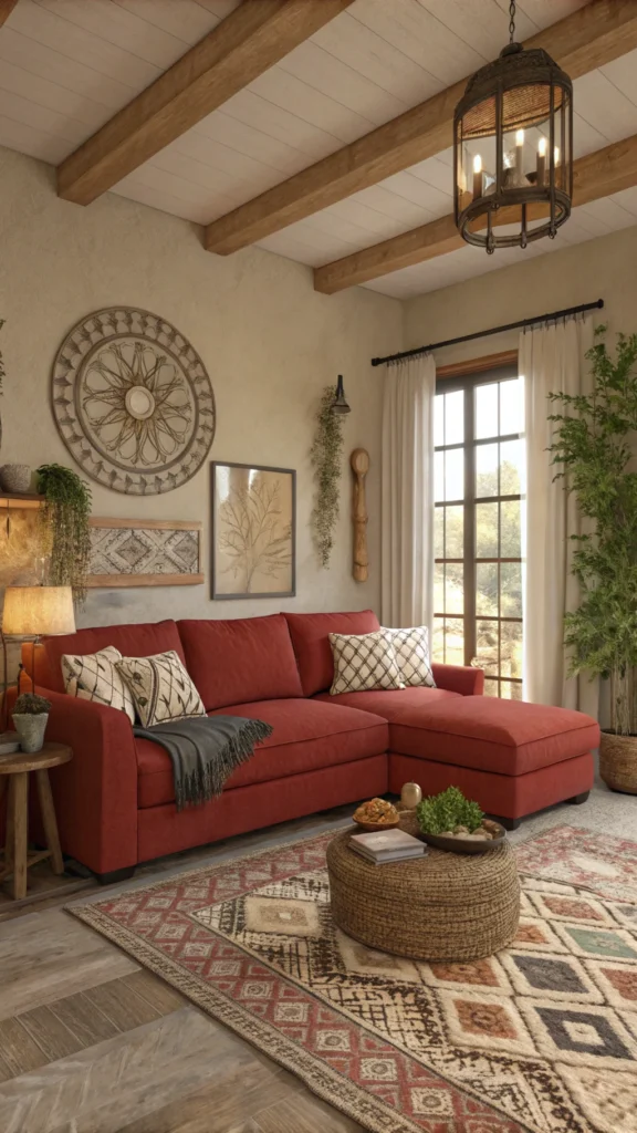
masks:
[[[468,80],[453,116],[456,225],[468,244],[553,237],[572,198],[572,83],[541,48],[509,43]]]

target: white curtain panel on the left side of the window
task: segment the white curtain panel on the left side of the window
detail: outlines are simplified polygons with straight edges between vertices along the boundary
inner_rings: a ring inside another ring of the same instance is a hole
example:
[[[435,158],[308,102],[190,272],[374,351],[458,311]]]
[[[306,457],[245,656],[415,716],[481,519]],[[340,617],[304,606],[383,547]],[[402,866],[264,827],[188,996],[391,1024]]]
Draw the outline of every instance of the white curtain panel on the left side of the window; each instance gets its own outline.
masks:
[[[432,355],[387,367],[381,494],[381,617],[397,628],[433,620]]]

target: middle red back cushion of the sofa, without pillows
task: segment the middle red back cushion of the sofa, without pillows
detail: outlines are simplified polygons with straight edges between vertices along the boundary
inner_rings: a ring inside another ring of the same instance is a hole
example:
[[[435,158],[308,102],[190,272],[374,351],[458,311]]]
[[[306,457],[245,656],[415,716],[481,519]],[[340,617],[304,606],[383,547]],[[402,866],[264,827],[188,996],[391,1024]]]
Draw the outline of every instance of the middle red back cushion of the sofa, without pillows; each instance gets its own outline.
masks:
[[[184,621],[178,627],[186,667],[206,712],[252,700],[303,696],[282,614]]]

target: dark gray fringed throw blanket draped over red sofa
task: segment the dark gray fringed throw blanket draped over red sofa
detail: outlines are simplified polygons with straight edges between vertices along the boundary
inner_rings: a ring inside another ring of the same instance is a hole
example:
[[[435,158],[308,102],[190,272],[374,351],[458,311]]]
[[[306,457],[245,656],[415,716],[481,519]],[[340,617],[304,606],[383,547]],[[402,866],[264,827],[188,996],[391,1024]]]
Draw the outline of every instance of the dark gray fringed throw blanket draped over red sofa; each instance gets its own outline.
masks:
[[[270,724],[244,716],[192,716],[151,727],[134,725],[135,735],[165,748],[172,760],[177,810],[215,799],[255,744],[272,734]]]

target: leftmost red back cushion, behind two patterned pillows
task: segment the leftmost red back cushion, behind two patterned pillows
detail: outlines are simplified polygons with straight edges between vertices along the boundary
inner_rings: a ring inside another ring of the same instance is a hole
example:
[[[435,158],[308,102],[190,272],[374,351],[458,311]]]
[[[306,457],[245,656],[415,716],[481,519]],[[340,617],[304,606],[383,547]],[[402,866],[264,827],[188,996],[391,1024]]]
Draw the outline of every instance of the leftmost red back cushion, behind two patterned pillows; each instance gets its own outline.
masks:
[[[36,679],[37,681],[45,679],[46,688],[63,692],[61,666],[63,654],[75,653],[85,656],[88,653],[97,653],[108,645],[119,649],[124,657],[152,657],[155,653],[175,649],[185,662],[179,631],[173,621],[146,622],[141,625],[95,625],[93,629],[77,630],[76,633],[44,638],[45,665],[36,663]]]

